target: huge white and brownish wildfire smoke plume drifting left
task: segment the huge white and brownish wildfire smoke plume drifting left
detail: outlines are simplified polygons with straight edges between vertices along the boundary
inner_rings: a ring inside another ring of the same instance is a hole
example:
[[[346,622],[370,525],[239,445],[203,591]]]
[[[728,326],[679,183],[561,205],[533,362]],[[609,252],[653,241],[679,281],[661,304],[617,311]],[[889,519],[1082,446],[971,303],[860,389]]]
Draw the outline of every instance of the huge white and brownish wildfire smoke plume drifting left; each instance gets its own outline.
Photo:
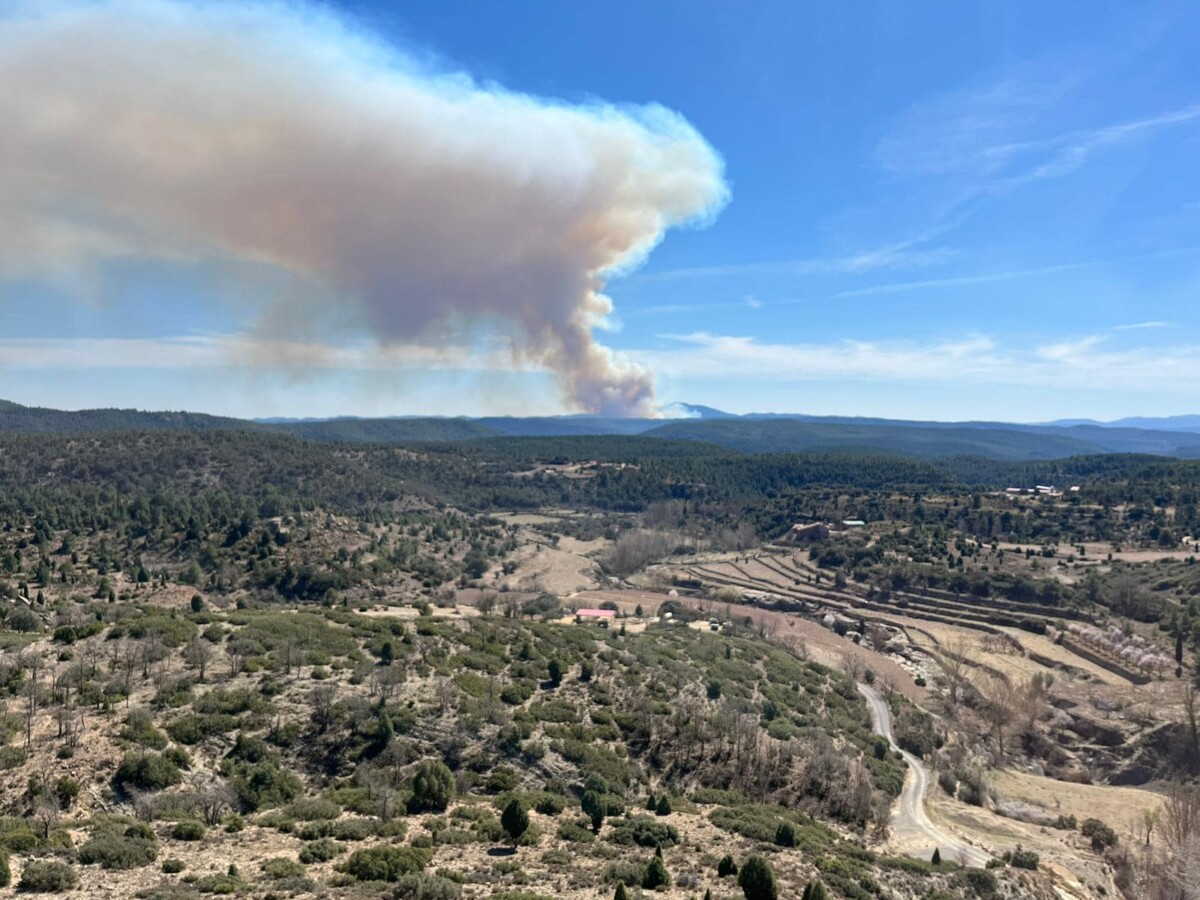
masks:
[[[307,6],[2,10],[0,278],[268,264],[320,288],[265,304],[271,338],[337,325],[388,347],[499,324],[572,406],[653,412],[650,374],[592,331],[606,275],[727,197],[676,113],[431,71]]]

